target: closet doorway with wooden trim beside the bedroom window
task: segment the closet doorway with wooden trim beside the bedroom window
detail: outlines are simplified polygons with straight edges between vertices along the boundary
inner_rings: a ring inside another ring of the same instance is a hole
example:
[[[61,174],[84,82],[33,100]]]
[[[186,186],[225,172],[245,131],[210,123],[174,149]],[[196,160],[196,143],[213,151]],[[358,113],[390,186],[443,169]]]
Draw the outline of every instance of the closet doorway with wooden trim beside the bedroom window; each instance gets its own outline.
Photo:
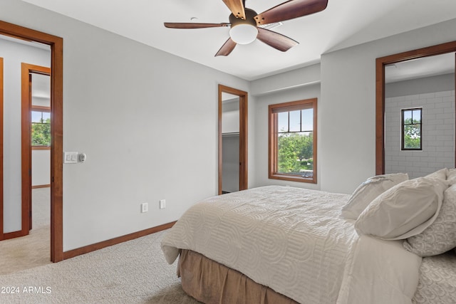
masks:
[[[219,194],[247,189],[247,92],[219,85]]]

